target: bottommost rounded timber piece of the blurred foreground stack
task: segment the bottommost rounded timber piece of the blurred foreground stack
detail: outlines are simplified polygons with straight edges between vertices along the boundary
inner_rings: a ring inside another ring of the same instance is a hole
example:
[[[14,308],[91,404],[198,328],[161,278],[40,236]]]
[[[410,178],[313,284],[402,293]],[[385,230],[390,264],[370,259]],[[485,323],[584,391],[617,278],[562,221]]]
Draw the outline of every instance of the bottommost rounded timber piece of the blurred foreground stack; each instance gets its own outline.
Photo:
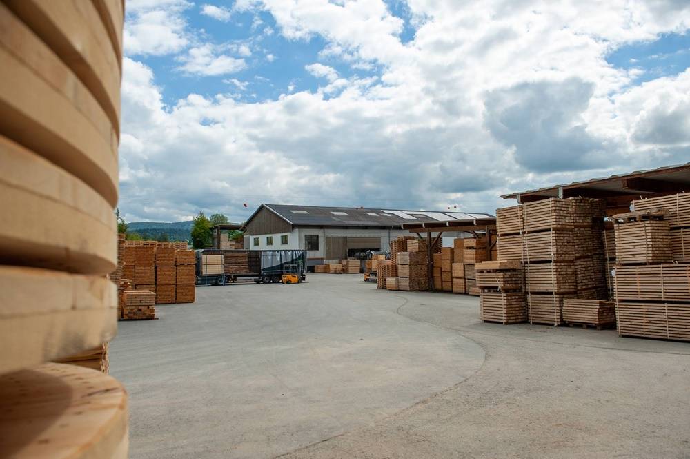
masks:
[[[8,458],[126,458],[127,393],[92,369],[49,363],[0,376]]]

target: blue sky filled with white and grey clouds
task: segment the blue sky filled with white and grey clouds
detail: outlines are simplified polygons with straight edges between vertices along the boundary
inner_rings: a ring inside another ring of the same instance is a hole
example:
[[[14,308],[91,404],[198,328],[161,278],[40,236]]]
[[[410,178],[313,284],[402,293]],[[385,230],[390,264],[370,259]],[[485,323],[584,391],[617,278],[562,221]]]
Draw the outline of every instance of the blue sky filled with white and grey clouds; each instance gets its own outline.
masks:
[[[492,213],[689,160],[690,4],[509,3],[128,0],[121,211]]]

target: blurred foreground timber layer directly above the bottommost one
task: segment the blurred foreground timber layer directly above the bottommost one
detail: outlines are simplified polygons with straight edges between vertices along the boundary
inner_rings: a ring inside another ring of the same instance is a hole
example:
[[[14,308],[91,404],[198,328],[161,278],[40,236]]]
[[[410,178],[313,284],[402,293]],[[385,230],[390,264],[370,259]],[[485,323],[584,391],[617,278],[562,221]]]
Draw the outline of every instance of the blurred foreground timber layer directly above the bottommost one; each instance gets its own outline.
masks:
[[[116,290],[102,276],[0,266],[0,373],[112,340]]]

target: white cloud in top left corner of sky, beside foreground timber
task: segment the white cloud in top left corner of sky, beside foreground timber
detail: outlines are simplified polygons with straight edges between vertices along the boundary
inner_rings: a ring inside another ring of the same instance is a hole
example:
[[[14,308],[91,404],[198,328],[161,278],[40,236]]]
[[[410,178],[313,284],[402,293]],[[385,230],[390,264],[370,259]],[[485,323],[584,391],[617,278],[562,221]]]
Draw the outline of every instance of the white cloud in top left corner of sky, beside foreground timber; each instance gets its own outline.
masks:
[[[126,55],[167,55],[189,43],[185,0],[130,0],[123,40]]]

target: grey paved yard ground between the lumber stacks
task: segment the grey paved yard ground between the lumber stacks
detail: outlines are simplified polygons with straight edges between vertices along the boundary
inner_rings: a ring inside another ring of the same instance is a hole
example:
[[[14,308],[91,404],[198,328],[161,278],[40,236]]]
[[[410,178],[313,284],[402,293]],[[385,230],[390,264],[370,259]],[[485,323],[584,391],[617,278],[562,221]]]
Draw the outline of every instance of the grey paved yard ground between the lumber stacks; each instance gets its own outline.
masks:
[[[137,458],[688,458],[690,344],[483,324],[355,275],[120,322]]]

